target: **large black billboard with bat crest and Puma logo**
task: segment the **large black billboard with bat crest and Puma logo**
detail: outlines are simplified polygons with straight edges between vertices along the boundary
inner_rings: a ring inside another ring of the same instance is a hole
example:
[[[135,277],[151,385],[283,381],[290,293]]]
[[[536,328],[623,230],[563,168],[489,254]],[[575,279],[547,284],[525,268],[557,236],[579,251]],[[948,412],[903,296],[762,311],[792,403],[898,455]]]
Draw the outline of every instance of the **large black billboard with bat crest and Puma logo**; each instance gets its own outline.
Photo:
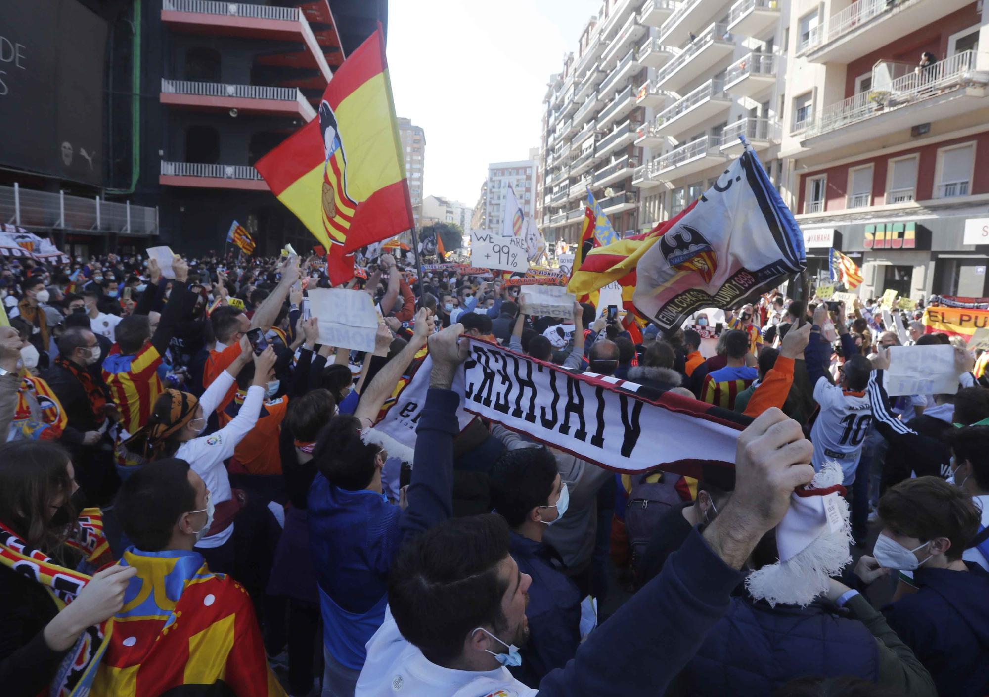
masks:
[[[106,44],[77,0],[0,2],[0,164],[103,182]]]

